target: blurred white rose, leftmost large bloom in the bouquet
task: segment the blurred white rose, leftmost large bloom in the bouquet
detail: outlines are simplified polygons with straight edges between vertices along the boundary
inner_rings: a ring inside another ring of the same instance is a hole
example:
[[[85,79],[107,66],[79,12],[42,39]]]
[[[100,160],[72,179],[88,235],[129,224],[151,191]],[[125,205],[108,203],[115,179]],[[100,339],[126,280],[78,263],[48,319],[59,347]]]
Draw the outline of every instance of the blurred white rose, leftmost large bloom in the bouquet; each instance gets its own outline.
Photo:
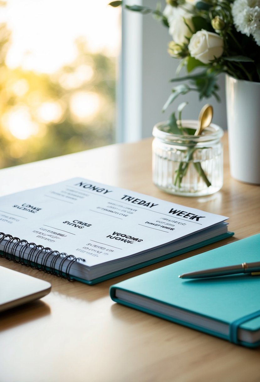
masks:
[[[187,44],[194,30],[192,17],[193,5],[185,3],[183,7],[167,5],[164,10],[169,23],[169,33],[176,44]]]

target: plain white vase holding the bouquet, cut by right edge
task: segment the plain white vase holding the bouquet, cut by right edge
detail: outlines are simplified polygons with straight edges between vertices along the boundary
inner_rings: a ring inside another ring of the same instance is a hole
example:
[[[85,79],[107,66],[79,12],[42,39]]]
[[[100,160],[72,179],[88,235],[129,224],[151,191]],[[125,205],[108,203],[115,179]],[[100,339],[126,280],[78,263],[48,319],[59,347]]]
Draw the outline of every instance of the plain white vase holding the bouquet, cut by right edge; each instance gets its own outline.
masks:
[[[226,76],[230,173],[260,184],[260,83]]]

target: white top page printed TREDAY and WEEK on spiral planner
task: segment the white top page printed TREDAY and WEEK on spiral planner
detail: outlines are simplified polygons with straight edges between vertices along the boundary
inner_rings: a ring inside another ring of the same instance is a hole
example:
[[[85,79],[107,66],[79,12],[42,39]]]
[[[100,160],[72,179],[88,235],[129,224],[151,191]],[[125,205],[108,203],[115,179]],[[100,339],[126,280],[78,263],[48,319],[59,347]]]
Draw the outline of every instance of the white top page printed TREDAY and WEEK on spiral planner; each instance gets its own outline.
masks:
[[[73,178],[0,198],[0,231],[97,265],[228,219]]]

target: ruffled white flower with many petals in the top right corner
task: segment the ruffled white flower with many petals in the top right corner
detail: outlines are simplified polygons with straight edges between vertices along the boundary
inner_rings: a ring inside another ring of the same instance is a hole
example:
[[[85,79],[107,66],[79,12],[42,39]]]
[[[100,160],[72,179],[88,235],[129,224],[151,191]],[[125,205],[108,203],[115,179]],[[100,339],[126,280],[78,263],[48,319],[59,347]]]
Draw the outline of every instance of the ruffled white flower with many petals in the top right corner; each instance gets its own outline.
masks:
[[[260,0],[235,0],[231,11],[238,32],[250,36],[260,29]]]

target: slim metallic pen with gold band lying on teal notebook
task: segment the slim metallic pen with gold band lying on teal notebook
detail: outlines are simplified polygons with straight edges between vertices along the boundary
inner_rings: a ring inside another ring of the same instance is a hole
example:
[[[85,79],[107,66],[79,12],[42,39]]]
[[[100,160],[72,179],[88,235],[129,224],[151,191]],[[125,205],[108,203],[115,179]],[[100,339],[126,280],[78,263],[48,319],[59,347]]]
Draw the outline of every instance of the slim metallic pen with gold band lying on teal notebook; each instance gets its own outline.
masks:
[[[180,275],[180,278],[205,278],[234,275],[238,273],[251,273],[252,276],[260,275],[260,261],[252,263],[242,263],[238,265],[230,265],[228,267],[212,268],[198,270],[196,272],[188,272]]]

